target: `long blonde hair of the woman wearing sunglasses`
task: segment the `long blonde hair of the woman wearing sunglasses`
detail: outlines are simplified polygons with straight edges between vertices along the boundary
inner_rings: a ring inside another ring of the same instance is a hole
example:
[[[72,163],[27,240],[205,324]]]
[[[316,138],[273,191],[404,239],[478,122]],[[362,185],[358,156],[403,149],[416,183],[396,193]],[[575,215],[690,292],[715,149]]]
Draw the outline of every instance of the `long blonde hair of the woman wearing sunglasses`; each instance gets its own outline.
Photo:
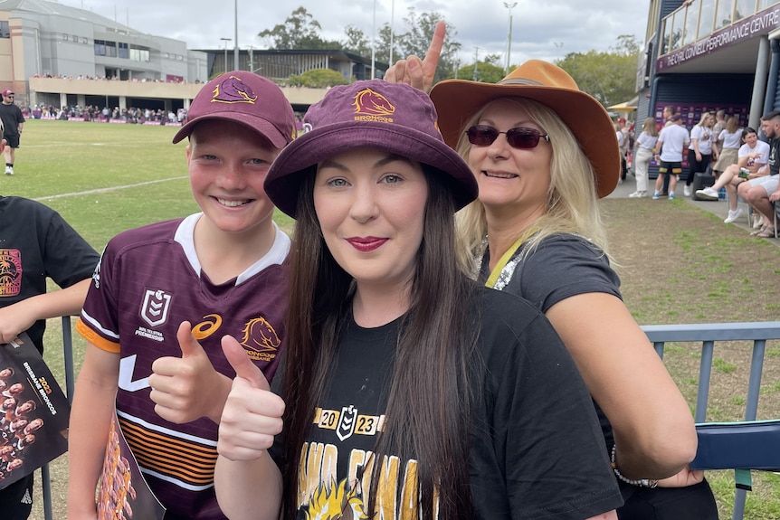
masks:
[[[523,98],[499,99],[509,99],[518,107],[525,109],[528,117],[540,128],[545,129],[553,149],[546,210],[533,223],[533,227],[538,232],[528,240],[528,247],[525,248],[524,254],[534,251],[539,242],[550,235],[574,233],[593,242],[609,258],[607,235],[596,195],[595,171],[574,134],[552,109],[537,101]],[[465,135],[465,128],[475,125],[490,103],[496,100],[498,99],[490,100],[463,125],[464,131],[461,133],[456,149],[467,163],[471,143]],[[609,137],[604,136],[604,138]],[[472,253],[479,251],[488,232],[485,208],[479,199],[456,214],[456,223],[459,235],[464,241],[463,246]],[[518,230],[516,238],[526,231]]]

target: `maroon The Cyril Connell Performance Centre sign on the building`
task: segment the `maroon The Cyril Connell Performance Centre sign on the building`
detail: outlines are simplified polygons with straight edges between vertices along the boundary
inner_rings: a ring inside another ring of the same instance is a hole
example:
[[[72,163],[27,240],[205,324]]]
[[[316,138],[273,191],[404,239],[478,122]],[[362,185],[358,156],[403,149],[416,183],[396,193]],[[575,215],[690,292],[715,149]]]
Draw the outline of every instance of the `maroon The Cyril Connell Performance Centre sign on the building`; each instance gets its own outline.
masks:
[[[754,14],[737,24],[721,29],[718,33],[712,33],[699,42],[690,43],[678,51],[662,56],[655,62],[655,70],[659,72],[669,70],[685,61],[716,52],[728,45],[771,33],[778,27],[780,27],[780,5],[775,5],[772,9]]]

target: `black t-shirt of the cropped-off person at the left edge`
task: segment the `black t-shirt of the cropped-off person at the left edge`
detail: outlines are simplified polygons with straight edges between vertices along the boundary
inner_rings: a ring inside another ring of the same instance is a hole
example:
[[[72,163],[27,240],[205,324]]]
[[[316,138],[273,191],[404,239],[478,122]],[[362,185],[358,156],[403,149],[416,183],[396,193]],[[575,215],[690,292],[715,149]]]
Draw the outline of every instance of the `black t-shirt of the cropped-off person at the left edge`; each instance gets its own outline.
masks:
[[[89,279],[100,256],[48,206],[0,196],[0,307],[46,292],[46,279],[61,288]],[[43,352],[46,320],[27,334]]]

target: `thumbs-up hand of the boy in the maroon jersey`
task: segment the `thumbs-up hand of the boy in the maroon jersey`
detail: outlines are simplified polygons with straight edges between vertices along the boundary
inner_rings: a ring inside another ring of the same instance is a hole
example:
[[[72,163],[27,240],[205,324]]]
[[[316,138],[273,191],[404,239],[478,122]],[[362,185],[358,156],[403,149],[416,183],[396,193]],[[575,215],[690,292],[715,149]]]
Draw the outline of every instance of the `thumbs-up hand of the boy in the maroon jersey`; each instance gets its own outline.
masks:
[[[181,357],[160,357],[152,364],[149,397],[155,412],[166,421],[183,424],[208,417],[219,422],[230,392],[230,378],[214,370],[192,326],[182,322],[176,332]]]

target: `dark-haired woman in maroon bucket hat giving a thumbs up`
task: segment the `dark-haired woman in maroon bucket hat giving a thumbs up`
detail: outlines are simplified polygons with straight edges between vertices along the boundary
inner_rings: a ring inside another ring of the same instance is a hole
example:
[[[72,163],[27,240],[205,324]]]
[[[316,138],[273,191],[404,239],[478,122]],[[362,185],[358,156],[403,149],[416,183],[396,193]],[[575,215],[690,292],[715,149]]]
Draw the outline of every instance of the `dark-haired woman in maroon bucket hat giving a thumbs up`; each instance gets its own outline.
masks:
[[[218,444],[224,513],[616,518],[622,500],[565,347],[527,302],[480,287],[458,260],[453,213],[477,184],[430,99],[357,81],[304,121],[265,181],[297,220],[274,392],[223,344],[237,374]]]

